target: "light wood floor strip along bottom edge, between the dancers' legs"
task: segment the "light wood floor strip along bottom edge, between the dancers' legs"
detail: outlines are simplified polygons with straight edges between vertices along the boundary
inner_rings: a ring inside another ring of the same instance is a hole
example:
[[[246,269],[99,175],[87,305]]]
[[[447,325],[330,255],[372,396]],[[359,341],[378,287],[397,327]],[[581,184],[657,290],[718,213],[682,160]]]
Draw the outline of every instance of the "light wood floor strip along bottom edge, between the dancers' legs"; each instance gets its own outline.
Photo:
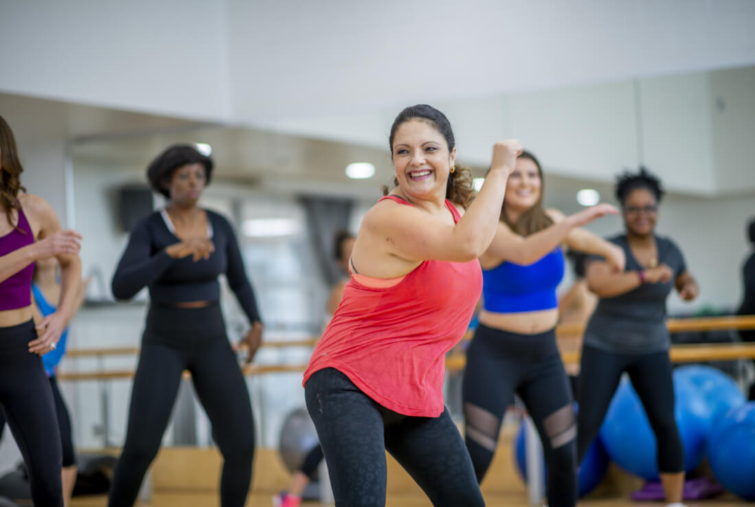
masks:
[[[488,507],[529,507],[527,499],[521,494],[517,495],[485,495],[485,503]],[[215,493],[173,493],[158,494],[153,496],[153,501],[142,504],[143,507],[217,507],[219,504]],[[105,496],[91,498],[75,498],[71,507],[105,507]],[[248,499],[247,507],[270,507],[273,502],[269,494],[254,494]],[[318,502],[303,502],[302,506],[316,507],[326,504]],[[331,504],[332,505],[332,504]],[[388,497],[387,507],[430,507],[430,502],[417,495],[392,495]],[[637,502],[627,499],[589,499],[583,500],[579,505],[584,507],[618,507],[619,505],[634,505],[636,507],[658,507],[663,503]],[[722,497],[704,502],[688,502],[689,507],[752,507],[753,503],[747,503],[732,497]],[[460,505],[460,507],[463,507]]]

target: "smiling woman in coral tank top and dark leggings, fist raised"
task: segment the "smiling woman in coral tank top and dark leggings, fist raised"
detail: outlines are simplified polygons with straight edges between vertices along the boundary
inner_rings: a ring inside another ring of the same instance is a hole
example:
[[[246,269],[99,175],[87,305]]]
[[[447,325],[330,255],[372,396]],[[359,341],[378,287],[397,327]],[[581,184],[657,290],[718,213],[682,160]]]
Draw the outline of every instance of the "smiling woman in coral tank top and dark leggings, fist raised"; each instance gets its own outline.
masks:
[[[444,359],[479,299],[477,257],[495,234],[521,146],[495,144],[471,204],[471,174],[455,167],[442,112],[405,108],[391,127],[390,150],[395,188],[362,221],[351,280],[304,374],[307,409],[336,505],[385,505],[385,450],[433,505],[484,505],[443,405]]]

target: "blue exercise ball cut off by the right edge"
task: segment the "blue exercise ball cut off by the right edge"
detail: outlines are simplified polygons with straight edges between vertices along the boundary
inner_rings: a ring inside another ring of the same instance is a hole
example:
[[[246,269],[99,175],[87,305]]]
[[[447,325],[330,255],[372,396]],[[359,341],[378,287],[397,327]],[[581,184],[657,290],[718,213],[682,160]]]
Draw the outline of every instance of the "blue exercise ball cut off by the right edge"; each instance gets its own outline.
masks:
[[[727,490],[755,500],[755,402],[732,408],[713,424],[708,462]]]

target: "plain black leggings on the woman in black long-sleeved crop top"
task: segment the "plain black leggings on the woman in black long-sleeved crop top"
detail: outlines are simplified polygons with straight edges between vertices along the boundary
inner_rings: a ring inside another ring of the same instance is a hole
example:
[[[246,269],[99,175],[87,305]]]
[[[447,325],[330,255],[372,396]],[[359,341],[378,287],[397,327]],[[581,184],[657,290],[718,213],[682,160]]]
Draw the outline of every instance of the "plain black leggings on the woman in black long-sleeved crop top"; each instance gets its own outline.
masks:
[[[110,507],[134,505],[155,458],[183,370],[212,424],[223,454],[220,504],[242,507],[251,483],[254,421],[246,383],[226,336],[220,306],[149,309],[131,391],[128,431],[116,464]]]

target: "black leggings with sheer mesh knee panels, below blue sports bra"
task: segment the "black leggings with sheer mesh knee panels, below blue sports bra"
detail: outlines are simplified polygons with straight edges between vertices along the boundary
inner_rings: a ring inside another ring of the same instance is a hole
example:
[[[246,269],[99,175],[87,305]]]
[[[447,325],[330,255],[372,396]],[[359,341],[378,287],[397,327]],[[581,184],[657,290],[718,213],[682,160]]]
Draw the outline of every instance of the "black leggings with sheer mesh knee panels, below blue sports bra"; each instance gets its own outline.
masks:
[[[498,446],[501,420],[516,392],[538,429],[548,466],[548,504],[577,502],[576,425],[572,389],[556,334],[518,334],[479,325],[464,370],[467,449],[482,481]]]

